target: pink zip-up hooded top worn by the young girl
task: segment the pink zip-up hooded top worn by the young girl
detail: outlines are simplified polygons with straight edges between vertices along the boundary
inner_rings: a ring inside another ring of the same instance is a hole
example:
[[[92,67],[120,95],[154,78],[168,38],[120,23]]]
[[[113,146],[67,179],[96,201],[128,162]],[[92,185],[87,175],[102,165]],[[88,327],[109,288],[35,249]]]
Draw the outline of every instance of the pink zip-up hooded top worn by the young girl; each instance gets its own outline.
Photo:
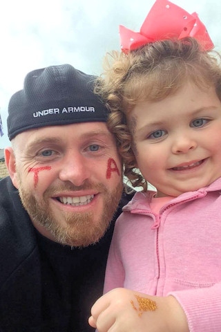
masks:
[[[221,178],[151,211],[137,192],[115,225],[104,293],[173,295],[191,332],[221,332]]]

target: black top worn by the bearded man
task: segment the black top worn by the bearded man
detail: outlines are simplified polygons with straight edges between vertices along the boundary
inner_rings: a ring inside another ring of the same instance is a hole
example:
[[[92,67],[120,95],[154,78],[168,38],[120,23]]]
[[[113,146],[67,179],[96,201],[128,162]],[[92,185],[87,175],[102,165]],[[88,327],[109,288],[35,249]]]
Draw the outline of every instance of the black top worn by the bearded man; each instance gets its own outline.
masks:
[[[61,246],[35,230],[10,178],[0,181],[0,331],[91,332],[90,307],[102,295],[114,221],[87,248]]]

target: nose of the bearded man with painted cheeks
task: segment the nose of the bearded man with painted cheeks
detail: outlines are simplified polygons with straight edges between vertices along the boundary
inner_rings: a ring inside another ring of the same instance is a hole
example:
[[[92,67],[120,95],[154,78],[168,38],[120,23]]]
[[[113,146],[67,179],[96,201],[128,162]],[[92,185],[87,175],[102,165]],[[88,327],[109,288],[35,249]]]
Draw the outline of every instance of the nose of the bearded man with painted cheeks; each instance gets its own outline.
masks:
[[[90,176],[90,160],[86,160],[79,152],[69,152],[64,158],[64,163],[59,172],[61,181],[70,181],[73,185],[84,184]]]

